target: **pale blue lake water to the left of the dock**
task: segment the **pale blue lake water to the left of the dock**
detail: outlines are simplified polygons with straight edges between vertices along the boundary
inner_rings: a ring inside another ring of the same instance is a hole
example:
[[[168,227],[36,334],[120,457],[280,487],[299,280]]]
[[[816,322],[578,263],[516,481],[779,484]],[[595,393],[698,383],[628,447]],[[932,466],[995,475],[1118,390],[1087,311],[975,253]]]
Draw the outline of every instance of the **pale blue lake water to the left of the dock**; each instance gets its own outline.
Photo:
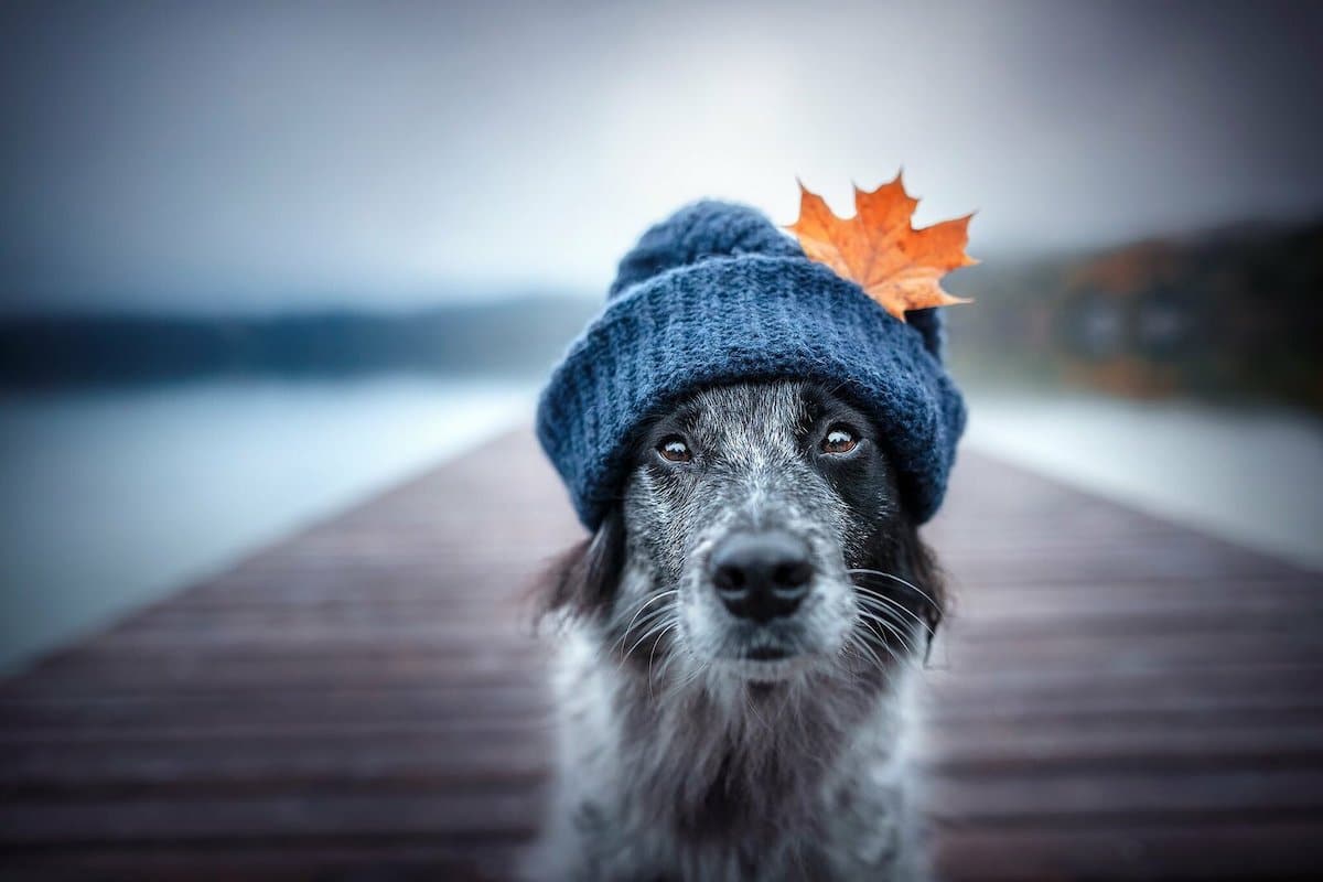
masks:
[[[528,421],[389,378],[0,399],[0,669]]]

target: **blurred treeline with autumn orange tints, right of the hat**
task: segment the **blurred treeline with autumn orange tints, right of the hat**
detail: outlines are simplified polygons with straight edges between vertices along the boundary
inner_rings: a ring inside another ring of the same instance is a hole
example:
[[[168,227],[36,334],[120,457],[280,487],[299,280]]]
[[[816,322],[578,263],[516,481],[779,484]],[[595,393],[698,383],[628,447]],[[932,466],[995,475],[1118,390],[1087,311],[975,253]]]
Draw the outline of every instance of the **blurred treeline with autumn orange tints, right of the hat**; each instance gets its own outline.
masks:
[[[988,261],[953,276],[962,377],[1323,410],[1323,220]]]

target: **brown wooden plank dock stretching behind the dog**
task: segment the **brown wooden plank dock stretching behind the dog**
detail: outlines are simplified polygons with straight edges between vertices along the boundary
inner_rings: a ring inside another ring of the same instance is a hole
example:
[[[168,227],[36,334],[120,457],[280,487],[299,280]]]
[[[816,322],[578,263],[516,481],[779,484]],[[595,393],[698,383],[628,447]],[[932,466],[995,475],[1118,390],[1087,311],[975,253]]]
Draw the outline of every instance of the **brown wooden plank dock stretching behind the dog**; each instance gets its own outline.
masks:
[[[516,432],[0,684],[0,878],[504,878],[576,536]],[[968,452],[927,536],[947,878],[1323,874],[1323,577]]]

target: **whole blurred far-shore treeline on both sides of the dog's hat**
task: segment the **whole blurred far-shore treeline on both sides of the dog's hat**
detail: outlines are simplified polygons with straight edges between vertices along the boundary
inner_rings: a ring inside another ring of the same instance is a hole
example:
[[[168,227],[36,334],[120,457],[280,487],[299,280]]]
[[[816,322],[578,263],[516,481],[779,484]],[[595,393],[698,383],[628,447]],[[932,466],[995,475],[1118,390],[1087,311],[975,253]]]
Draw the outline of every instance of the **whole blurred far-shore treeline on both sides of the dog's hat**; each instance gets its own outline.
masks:
[[[1106,251],[991,257],[950,279],[957,377],[1323,410],[1323,220]],[[540,377],[601,298],[493,296],[415,312],[0,321],[0,386],[385,372]]]

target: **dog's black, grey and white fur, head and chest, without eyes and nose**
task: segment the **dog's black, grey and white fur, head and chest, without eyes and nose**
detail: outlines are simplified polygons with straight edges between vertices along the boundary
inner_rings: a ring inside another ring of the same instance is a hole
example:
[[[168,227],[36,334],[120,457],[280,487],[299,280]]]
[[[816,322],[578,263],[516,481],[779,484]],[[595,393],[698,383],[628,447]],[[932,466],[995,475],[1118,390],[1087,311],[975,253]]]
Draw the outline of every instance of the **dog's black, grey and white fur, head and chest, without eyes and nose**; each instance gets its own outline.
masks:
[[[841,426],[857,446],[824,452]],[[675,436],[692,461],[659,455]],[[544,587],[564,639],[560,774],[532,875],[926,875],[910,674],[943,594],[885,451],[800,382],[708,389],[643,427],[622,499]],[[738,619],[716,595],[713,547],[750,529],[808,545],[791,616]]]

